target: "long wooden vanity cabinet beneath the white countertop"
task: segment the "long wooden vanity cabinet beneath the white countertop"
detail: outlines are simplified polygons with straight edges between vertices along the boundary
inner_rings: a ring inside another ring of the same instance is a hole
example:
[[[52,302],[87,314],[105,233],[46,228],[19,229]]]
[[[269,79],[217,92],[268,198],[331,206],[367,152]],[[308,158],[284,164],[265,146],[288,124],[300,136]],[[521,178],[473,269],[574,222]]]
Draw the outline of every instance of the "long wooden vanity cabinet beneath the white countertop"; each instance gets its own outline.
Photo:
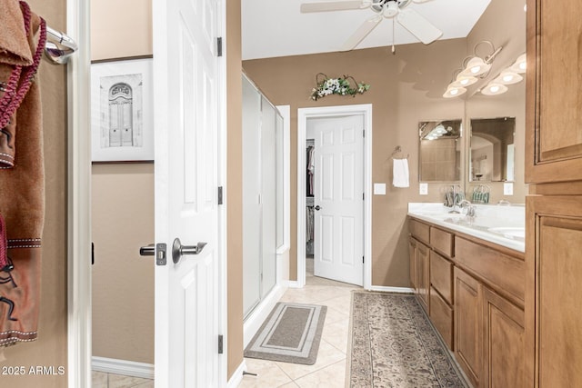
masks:
[[[582,210],[580,216],[577,252],[582,252]],[[469,382],[475,388],[527,387],[524,254],[437,225],[411,221],[415,225],[410,231],[411,283],[416,285],[418,300],[455,353]],[[424,235],[428,244],[417,240],[418,234]],[[546,244],[548,254],[555,251],[554,243]],[[582,268],[582,261],[579,263]],[[568,286],[582,292],[582,287]],[[582,339],[582,325],[580,329],[574,327],[582,322],[578,310],[573,313],[578,320],[567,330],[579,333],[577,338]],[[549,320],[550,315],[545,319]],[[557,327],[552,330],[558,331]],[[551,342],[549,332],[547,341]],[[559,358],[560,354],[552,353],[552,357]],[[570,366],[571,371],[576,368]]]

